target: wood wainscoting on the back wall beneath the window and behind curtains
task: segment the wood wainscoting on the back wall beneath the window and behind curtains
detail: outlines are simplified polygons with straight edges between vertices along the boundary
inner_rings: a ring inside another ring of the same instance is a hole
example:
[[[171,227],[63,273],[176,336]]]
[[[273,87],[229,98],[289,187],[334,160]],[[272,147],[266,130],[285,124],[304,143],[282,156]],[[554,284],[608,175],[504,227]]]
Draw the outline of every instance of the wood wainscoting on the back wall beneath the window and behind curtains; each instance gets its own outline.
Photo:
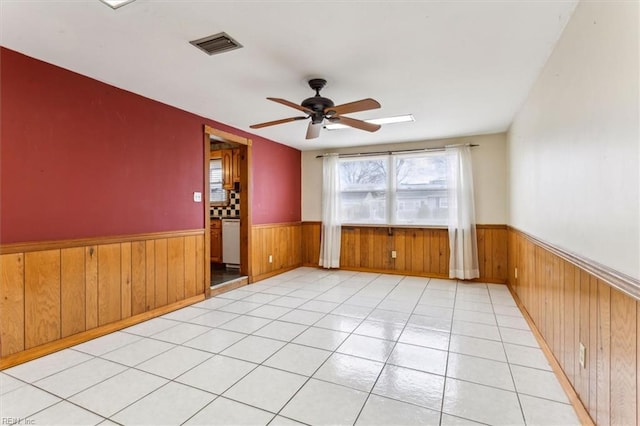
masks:
[[[320,222],[302,223],[302,262],[317,266]],[[507,280],[507,227],[478,225],[480,281]],[[391,251],[396,251],[396,258]],[[449,277],[449,235],[443,228],[343,226],[340,268]]]

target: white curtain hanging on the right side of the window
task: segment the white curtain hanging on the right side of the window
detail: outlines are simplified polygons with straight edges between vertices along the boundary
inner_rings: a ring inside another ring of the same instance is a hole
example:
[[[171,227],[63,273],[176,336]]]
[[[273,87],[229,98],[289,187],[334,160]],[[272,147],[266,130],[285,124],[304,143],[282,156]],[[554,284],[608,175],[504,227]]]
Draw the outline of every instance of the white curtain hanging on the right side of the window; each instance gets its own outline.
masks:
[[[472,279],[480,276],[476,214],[473,200],[471,148],[448,146],[449,185],[449,277]]]

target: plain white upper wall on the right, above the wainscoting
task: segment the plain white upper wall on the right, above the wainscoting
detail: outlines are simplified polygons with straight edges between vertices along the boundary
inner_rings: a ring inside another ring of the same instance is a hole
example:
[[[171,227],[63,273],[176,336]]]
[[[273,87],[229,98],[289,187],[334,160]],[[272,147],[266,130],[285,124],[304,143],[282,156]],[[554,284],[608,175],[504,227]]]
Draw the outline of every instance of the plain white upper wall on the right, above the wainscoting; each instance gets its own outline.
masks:
[[[582,1],[508,133],[509,224],[636,279],[638,16]]]

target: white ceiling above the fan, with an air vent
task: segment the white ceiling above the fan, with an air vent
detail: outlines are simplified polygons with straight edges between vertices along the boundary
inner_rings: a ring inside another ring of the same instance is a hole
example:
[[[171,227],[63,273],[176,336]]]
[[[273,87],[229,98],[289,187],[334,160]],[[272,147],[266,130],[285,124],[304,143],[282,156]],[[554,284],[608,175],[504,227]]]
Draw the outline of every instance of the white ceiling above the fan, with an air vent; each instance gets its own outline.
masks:
[[[300,150],[507,130],[577,1],[0,0],[0,43],[134,93]],[[221,31],[244,47],[208,56],[189,44]],[[376,133],[323,130],[266,100],[371,97],[360,119],[411,113]]]

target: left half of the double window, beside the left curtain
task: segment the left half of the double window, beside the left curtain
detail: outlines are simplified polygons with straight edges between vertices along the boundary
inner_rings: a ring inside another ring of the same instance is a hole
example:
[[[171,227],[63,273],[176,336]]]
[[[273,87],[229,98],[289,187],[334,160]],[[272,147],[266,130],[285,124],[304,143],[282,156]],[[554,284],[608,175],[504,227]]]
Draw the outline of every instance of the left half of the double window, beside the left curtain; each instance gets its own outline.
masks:
[[[387,222],[387,160],[340,160],[341,219],[344,223]]]

